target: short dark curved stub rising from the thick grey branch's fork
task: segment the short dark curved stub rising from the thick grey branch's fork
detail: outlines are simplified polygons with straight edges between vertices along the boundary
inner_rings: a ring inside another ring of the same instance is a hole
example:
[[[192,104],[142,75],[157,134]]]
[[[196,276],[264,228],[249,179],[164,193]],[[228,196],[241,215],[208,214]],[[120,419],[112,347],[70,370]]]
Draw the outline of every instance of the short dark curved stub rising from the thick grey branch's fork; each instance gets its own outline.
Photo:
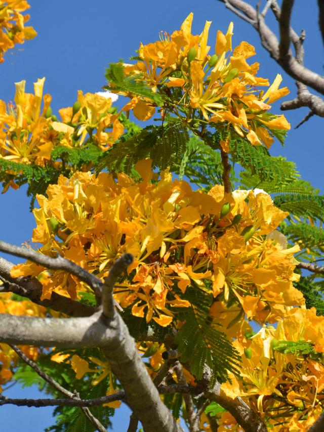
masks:
[[[102,313],[106,318],[113,318],[115,314],[114,299],[112,296],[114,284],[118,277],[133,263],[133,260],[134,258],[131,253],[124,253],[124,255],[121,255],[113,263],[109,270],[109,275],[105,278],[102,291]]]

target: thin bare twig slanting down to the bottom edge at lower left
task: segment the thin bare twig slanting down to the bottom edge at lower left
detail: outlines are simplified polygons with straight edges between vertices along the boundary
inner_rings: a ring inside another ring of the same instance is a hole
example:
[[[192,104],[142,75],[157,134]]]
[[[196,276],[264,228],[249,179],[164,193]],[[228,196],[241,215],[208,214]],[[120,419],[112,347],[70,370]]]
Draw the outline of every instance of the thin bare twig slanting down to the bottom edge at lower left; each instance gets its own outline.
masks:
[[[38,365],[28,357],[17,347],[17,345],[11,344],[10,347],[18,354],[18,356],[29,365],[39,376],[41,376],[46,382],[51,384],[56,390],[61,392],[63,395],[71,399],[81,400],[78,393],[71,393],[66,388],[62,387],[57,381],[51,378],[46,372],[38,367]],[[91,413],[88,407],[81,408],[86,417],[91,421],[91,423],[100,431],[107,432],[107,429],[100,423],[100,421]]]

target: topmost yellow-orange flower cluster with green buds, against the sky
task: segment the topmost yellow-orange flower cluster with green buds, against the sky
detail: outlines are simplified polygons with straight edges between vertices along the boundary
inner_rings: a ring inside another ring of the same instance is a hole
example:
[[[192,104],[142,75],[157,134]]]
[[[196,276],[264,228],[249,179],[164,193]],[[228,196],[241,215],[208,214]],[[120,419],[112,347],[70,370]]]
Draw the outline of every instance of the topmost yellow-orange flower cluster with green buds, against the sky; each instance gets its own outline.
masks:
[[[228,138],[221,143],[224,151],[229,151],[230,128],[252,145],[263,143],[269,148],[275,129],[290,129],[284,115],[268,112],[271,103],[289,93],[287,87],[279,89],[281,76],[276,76],[266,92],[258,91],[258,86],[268,86],[269,82],[256,76],[258,63],[247,63],[255,55],[252,45],[242,41],[232,50],[233,23],[225,35],[217,32],[215,54],[209,55],[211,21],[206,22],[200,35],[192,35],[192,18],[191,13],[180,30],[171,35],[160,33],[160,40],[141,44],[140,60],[135,65],[124,65],[126,75],[163,96],[162,116],[171,112],[184,118],[188,125],[198,121],[224,128]],[[152,100],[131,91],[114,90],[113,83],[110,89],[131,98],[124,110],[132,109],[139,120],[154,114]]]

